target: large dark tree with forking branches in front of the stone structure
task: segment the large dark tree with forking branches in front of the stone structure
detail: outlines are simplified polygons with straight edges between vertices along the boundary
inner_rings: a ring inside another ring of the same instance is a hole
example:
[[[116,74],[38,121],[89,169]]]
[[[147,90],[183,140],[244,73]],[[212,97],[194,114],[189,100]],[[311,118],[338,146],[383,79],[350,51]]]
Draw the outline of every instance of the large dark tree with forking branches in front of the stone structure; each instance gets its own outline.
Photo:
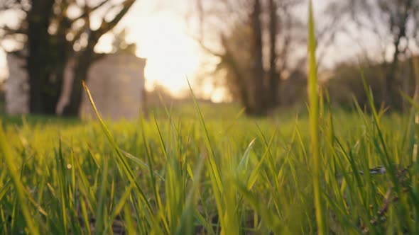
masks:
[[[75,77],[70,103],[64,113],[78,115],[82,80],[87,79],[90,65],[99,58],[94,47],[102,35],[121,21],[134,2],[102,0],[92,5],[87,0],[9,0],[0,5],[0,9],[24,15],[17,27],[4,24],[2,32],[3,35],[25,35],[31,113],[55,113],[65,67],[74,59]],[[79,13],[75,14],[77,11]],[[102,17],[97,29],[90,24],[94,16]]]

